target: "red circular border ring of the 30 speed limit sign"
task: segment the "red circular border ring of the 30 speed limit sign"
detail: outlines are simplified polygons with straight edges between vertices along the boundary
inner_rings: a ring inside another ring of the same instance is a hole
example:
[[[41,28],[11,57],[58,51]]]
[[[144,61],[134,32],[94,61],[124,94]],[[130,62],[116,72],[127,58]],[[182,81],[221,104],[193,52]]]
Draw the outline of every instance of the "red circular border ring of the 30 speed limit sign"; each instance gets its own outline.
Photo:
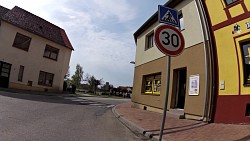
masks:
[[[162,44],[161,44],[161,41],[160,41],[160,32],[166,28],[170,28],[172,30],[174,30],[180,37],[181,39],[181,46],[178,50],[176,51],[170,51],[170,50],[167,50],[165,49]],[[178,56],[182,53],[182,51],[184,50],[184,47],[185,47],[185,40],[184,40],[184,37],[183,35],[181,34],[181,32],[176,28],[176,27],[173,27],[173,26],[170,26],[170,25],[161,25],[159,26],[156,30],[155,30],[155,44],[156,46],[158,47],[158,49],[166,54],[166,55],[169,55],[169,56]]]

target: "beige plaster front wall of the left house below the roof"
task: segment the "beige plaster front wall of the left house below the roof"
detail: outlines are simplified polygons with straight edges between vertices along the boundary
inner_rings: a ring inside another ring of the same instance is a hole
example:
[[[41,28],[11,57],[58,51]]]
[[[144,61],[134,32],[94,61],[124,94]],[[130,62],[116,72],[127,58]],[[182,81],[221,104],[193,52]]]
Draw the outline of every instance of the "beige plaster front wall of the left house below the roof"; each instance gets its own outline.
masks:
[[[17,32],[32,38],[28,52],[12,46]],[[28,88],[41,91],[46,88],[49,91],[62,91],[64,75],[68,71],[71,49],[4,21],[1,21],[0,26],[0,43],[0,61],[12,64],[10,74],[11,88]],[[59,49],[57,61],[43,57],[46,44]],[[24,66],[22,82],[18,81],[20,65]],[[40,71],[54,74],[52,87],[38,85]],[[27,87],[28,81],[33,82],[32,88]]]

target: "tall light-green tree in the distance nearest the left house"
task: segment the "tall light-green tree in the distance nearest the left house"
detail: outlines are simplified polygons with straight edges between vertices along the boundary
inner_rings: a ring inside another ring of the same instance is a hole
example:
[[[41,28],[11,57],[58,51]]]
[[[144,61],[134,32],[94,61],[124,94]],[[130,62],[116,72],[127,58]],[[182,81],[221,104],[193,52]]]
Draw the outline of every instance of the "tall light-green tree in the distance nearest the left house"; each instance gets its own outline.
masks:
[[[83,73],[84,72],[82,70],[82,67],[79,64],[77,64],[75,74],[72,76],[72,84],[75,85],[77,88],[83,81]]]

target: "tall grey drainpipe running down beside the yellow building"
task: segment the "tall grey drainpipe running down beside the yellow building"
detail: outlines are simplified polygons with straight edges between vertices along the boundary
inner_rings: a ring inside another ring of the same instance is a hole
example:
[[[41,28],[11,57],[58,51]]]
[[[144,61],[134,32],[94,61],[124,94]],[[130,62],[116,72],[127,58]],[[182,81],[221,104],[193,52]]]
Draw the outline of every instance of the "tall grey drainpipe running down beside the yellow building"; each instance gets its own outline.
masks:
[[[204,97],[204,109],[203,109],[203,115],[202,115],[202,121],[208,121],[208,119],[206,118],[206,113],[208,111],[208,102],[207,102],[207,98],[209,96],[209,72],[210,72],[210,59],[211,59],[211,55],[208,50],[207,50],[207,40],[208,40],[208,37],[207,37],[207,34],[208,34],[208,26],[205,25],[207,23],[206,21],[206,15],[205,15],[205,12],[204,12],[204,9],[203,9],[203,5],[201,3],[200,0],[195,0],[196,2],[196,8],[197,8],[197,11],[198,11],[198,15],[199,15],[199,19],[200,19],[200,24],[201,24],[201,29],[202,29],[202,37],[203,37],[203,46],[204,46],[204,55],[205,55],[205,97]],[[209,40],[208,40],[209,41]],[[211,47],[211,46],[210,46]],[[205,119],[206,118],[206,119]],[[209,119],[210,120],[210,119]]]

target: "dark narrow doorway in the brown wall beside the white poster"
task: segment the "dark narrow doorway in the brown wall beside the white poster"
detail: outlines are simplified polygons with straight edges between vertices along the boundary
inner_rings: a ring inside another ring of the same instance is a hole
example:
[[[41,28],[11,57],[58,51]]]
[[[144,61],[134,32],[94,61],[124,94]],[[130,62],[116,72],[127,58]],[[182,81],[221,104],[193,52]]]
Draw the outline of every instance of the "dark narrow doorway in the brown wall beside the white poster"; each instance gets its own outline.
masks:
[[[172,108],[184,109],[187,69],[174,70]]]

